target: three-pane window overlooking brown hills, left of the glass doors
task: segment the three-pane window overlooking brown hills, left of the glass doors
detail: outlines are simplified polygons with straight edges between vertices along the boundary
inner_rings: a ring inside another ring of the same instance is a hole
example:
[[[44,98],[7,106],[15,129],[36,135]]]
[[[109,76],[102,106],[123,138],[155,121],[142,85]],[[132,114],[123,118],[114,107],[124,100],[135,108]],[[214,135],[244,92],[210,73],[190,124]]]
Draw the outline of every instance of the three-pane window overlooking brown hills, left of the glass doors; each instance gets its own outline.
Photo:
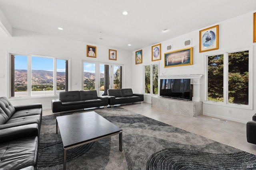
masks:
[[[68,90],[68,61],[52,57],[10,55],[10,96],[54,96]]]

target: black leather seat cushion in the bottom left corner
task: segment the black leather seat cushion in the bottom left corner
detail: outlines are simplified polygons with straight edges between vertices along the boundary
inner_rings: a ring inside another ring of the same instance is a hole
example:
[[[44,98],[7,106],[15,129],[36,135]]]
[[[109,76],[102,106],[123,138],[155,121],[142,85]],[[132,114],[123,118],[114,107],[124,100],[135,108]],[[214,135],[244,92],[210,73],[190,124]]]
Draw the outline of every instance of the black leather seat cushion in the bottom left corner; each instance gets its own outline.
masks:
[[[38,143],[37,136],[0,143],[0,169],[18,170],[36,166]]]

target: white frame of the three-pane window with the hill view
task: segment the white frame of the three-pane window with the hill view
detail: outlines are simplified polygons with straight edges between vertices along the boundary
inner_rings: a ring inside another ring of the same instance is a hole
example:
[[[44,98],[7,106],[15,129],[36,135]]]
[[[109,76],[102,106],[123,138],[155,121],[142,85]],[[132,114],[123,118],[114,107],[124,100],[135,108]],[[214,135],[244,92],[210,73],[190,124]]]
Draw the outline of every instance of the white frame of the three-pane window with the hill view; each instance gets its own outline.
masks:
[[[27,96],[11,96],[11,55],[22,55],[22,56],[26,56],[27,57],[27,79],[28,79],[28,84],[27,84]],[[42,57],[42,58],[50,58],[53,59],[53,95],[49,95],[49,96],[32,96],[31,94],[31,90],[32,90],[32,83],[31,83],[31,76],[32,76],[32,65],[31,65],[31,57]],[[7,90],[8,90],[8,94],[7,97],[9,99],[30,99],[30,98],[52,98],[52,97],[56,97],[58,96],[57,94],[57,84],[56,84],[56,77],[57,77],[57,59],[60,60],[65,60],[68,61],[68,91],[70,91],[70,61],[71,59],[67,59],[67,58],[60,58],[60,57],[51,57],[51,56],[43,56],[43,55],[32,55],[32,54],[27,54],[27,53],[12,53],[12,52],[8,52],[7,54],[7,62],[8,62],[8,71],[7,71],[7,75],[8,75],[8,80],[7,80]]]

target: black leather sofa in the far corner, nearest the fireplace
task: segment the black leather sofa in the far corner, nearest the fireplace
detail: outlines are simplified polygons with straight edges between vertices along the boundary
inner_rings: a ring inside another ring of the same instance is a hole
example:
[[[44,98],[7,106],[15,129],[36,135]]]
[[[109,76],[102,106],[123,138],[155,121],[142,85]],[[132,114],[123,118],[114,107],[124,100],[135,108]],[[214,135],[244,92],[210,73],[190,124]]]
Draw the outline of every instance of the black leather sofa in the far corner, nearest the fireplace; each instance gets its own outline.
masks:
[[[116,104],[143,102],[143,94],[134,94],[131,88],[108,89],[108,104],[113,107]]]

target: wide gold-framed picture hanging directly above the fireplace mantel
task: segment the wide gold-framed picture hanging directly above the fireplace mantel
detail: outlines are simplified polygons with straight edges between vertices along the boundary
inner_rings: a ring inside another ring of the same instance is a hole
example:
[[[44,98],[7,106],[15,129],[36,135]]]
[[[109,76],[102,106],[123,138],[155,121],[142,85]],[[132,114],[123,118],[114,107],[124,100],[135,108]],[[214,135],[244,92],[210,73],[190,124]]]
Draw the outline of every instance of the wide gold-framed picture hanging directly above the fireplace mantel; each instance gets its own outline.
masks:
[[[164,67],[193,64],[193,47],[164,53]]]

